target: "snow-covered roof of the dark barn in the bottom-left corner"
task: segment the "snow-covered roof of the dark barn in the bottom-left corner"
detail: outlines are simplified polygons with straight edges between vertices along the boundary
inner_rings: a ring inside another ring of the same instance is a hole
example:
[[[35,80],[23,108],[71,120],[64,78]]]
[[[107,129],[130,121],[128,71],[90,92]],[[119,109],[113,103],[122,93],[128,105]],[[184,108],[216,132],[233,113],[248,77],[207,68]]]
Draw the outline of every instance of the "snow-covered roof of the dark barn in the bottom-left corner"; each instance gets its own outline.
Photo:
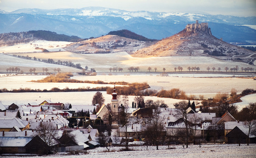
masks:
[[[32,139],[33,137],[0,137],[0,146],[23,147]]]

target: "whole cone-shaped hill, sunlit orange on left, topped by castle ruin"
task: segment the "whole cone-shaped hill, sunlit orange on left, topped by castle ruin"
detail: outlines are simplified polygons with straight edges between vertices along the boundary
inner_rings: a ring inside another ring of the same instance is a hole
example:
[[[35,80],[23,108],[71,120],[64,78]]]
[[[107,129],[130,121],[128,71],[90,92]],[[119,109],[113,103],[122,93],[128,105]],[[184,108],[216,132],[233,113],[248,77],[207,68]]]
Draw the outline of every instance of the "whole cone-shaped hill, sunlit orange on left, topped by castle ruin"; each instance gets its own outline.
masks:
[[[198,21],[187,24],[183,31],[173,36],[136,51],[133,56],[212,56],[249,64],[256,59],[254,52],[214,37],[208,23]]]

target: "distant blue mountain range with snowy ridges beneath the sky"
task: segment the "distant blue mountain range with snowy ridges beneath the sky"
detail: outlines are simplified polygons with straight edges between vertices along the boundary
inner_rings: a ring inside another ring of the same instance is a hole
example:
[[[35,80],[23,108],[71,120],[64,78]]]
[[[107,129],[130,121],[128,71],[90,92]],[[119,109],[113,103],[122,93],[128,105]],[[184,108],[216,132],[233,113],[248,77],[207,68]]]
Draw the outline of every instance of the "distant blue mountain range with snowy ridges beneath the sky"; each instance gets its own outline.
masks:
[[[119,9],[86,7],[81,9],[19,9],[0,10],[0,33],[52,31],[80,38],[99,37],[111,31],[128,29],[146,38],[160,40],[172,36],[188,24],[207,22],[212,33],[223,41],[256,44],[256,17],[236,17],[163,12],[128,12]]]

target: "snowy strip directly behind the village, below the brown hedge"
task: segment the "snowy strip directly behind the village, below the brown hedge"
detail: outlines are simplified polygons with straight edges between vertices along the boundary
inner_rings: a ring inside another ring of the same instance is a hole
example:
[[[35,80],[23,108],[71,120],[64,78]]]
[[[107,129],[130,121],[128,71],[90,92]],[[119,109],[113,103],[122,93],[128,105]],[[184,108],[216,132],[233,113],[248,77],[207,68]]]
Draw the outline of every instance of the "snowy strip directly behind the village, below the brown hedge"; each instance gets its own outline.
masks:
[[[49,92],[49,93],[0,93],[0,101],[4,105],[11,105],[15,103],[17,105],[24,105],[28,103],[40,104],[44,100],[51,100],[54,103],[70,103],[72,105],[72,110],[93,110],[93,107],[89,107],[92,102],[93,95],[96,92]],[[105,97],[105,104],[111,102],[112,96],[107,94],[107,92],[101,92],[103,97]],[[129,104],[134,101],[135,96],[128,96]],[[175,108],[174,103],[180,102],[182,100],[176,100],[173,98],[159,98],[156,96],[145,96],[146,100],[163,100],[170,108]]]

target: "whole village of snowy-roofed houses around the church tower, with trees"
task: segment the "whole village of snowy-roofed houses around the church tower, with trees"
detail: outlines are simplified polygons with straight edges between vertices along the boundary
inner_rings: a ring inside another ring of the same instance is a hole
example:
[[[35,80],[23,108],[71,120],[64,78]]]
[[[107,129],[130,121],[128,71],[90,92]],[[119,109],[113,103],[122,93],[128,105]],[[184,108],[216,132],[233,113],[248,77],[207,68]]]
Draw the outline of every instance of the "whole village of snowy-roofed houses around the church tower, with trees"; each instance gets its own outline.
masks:
[[[84,112],[50,100],[22,106],[0,103],[0,153],[45,155],[99,146],[108,151],[110,146],[124,146],[128,151],[130,146],[141,145],[158,150],[160,145],[256,143],[255,103],[247,108],[248,119],[239,121],[231,115],[232,106],[220,116],[202,112],[189,100],[168,108],[162,101],[144,103],[142,96],[129,105],[127,96],[118,96],[115,86],[111,95],[110,104],[95,104],[93,111]]]

